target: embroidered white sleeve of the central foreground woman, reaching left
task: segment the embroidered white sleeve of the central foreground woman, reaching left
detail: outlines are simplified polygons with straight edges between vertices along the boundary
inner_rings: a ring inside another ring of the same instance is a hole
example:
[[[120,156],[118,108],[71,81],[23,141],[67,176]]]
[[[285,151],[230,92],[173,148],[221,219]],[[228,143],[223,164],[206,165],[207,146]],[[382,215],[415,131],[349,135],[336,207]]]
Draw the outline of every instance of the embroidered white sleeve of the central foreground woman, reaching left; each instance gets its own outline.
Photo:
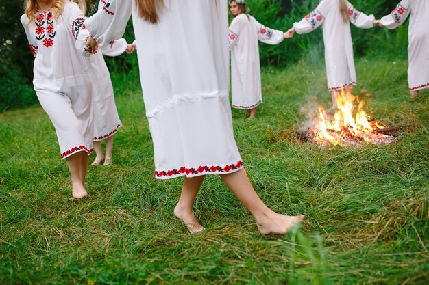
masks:
[[[86,19],[85,25],[89,34],[99,43],[106,46],[112,40],[122,37],[131,16],[132,0],[100,0],[97,13]]]

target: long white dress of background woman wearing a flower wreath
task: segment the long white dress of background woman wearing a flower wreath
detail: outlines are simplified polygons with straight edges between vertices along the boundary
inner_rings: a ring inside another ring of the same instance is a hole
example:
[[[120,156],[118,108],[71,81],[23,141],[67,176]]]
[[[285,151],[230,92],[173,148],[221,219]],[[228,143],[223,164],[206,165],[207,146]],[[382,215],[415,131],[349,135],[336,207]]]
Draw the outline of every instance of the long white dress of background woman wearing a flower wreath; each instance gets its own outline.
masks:
[[[258,40],[279,44],[283,32],[265,27],[247,14],[239,14],[230,25],[232,107],[252,109],[262,103]]]

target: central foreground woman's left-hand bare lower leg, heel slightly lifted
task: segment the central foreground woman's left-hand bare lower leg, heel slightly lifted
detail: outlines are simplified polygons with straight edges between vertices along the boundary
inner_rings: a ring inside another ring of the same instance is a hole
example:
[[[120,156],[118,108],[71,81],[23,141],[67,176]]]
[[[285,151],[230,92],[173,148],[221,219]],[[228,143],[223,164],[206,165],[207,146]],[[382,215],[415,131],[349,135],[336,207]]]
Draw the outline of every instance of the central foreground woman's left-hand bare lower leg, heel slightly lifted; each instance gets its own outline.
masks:
[[[204,178],[206,178],[205,175],[192,178],[185,177],[182,186],[182,194],[180,194],[180,200],[174,208],[174,215],[184,222],[191,234],[204,230],[195,218],[193,212],[193,204]]]

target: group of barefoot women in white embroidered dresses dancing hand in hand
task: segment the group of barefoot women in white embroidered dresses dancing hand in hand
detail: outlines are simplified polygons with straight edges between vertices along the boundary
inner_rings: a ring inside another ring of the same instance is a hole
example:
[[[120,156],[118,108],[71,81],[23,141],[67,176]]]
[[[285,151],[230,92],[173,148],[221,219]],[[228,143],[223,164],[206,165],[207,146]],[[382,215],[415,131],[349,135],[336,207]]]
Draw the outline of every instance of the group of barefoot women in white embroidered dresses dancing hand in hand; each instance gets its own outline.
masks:
[[[89,18],[84,0],[25,3],[21,22],[35,57],[34,90],[56,129],[73,197],[88,195],[85,177],[93,148],[93,165],[111,163],[113,135],[121,126],[102,54],[131,53],[137,47],[154,174],[158,179],[184,176],[174,215],[192,234],[204,230],[193,204],[207,174],[221,177],[262,234],[285,234],[304,219],[271,211],[247,178],[232,128],[230,54],[232,107],[254,118],[262,103],[258,41],[278,44],[322,25],[328,88],[335,101],[334,91],[356,85],[350,22],[394,29],[410,15],[410,92],[429,87],[426,0],[403,0],[381,20],[346,0],[322,0],[286,32],[258,23],[244,0],[101,0]],[[229,28],[227,5],[233,17]],[[121,38],[130,16],[133,44]],[[101,140],[106,140],[106,155]]]

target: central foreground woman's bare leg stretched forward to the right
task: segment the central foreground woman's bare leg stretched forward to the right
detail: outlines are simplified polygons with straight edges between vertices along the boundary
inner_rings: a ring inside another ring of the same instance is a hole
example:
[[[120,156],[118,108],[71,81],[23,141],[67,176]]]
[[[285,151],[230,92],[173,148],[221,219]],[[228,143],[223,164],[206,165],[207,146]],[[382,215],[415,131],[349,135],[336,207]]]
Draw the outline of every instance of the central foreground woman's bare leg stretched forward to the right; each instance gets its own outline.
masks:
[[[262,234],[286,234],[291,226],[295,226],[304,219],[303,215],[285,216],[271,211],[256,194],[244,169],[221,175],[221,178],[238,200],[254,215],[258,230]]]

